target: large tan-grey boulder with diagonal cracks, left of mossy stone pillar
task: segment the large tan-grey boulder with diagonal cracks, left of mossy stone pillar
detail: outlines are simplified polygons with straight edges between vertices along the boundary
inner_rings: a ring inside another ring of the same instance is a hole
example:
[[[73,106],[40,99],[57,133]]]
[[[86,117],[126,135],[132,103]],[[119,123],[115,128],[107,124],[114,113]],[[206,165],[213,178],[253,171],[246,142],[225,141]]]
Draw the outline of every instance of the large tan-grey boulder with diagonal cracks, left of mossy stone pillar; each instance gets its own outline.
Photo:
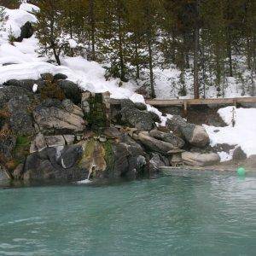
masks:
[[[85,121],[81,116],[61,108],[38,106],[32,115],[40,131],[46,133],[75,133],[85,128]]]

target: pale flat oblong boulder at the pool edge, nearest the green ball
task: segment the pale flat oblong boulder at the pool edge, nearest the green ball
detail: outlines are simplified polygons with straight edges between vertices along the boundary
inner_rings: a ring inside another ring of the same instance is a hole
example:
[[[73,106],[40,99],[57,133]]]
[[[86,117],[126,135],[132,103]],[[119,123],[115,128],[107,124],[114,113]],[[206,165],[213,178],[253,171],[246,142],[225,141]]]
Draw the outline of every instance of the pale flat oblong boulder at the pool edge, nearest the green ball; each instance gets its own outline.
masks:
[[[218,164],[220,158],[216,153],[183,152],[182,160],[187,166],[212,166]]]

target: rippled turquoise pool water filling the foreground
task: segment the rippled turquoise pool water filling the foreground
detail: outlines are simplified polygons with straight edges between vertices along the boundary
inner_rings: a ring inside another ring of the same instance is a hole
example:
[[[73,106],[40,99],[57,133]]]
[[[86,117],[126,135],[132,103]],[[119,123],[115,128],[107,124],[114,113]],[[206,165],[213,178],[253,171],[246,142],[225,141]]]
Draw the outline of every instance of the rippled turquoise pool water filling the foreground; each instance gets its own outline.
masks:
[[[0,188],[0,255],[255,252],[255,177]]]

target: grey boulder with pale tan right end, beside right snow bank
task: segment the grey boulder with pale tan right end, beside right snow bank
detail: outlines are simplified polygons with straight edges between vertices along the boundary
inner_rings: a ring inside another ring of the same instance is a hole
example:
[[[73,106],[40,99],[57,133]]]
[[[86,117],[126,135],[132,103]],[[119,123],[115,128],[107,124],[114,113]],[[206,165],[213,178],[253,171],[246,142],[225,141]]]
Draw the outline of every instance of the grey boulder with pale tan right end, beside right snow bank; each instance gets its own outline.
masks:
[[[195,147],[204,148],[210,142],[204,127],[190,124],[178,115],[173,115],[172,119],[168,119],[166,125],[171,131],[183,136],[188,143]]]

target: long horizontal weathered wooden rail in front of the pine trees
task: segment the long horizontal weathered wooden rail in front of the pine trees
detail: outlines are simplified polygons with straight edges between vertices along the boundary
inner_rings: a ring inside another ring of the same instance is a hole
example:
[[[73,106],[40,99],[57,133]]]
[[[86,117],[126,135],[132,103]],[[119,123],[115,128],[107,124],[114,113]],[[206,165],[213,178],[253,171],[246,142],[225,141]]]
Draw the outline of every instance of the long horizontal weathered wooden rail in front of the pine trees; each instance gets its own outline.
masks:
[[[175,106],[175,105],[236,105],[237,103],[256,103],[256,97],[240,97],[240,98],[216,98],[216,99],[173,99],[173,100],[146,100],[147,104],[152,106]]]

